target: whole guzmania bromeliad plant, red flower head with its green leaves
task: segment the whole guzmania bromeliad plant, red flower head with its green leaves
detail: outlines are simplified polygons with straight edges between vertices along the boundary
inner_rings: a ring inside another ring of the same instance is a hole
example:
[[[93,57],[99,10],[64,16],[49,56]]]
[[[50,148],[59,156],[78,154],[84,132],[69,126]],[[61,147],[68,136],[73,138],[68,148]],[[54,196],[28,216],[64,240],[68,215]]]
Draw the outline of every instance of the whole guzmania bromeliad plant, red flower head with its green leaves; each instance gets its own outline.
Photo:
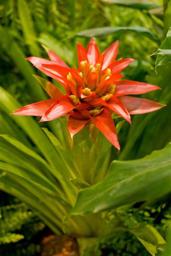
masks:
[[[129,229],[119,219],[114,221],[114,226],[110,222],[106,224],[111,209],[129,208],[135,202],[154,199],[158,189],[161,196],[170,190],[170,145],[143,159],[110,163],[111,146],[120,150],[117,132],[123,123],[118,122],[115,129],[113,119],[119,115],[131,124],[130,114],[144,114],[164,106],[148,99],[126,96],[160,88],[119,80],[123,77],[119,72],[133,59],[115,61],[118,47],[119,43],[114,42],[100,55],[95,40],[89,42],[86,50],[78,43],[78,70],[70,69],[49,49],[46,50],[51,61],[27,58],[40,71],[60,82],[65,95],[39,76],[35,77],[51,99],[19,108],[16,100],[2,90],[5,104],[8,102],[4,110],[8,109],[9,114],[18,108],[12,118],[40,154],[32,150],[28,141],[24,145],[1,135],[4,150],[0,161],[3,170],[0,188],[25,201],[54,233],[64,231],[74,235],[81,245],[80,255],[84,255],[84,249],[88,252],[94,239],[113,231],[132,232],[152,255],[155,255],[157,244],[165,243],[150,225],[137,223]],[[16,115],[41,116],[40,121],[59,118],[55,120],[57,135],[46,128],[42,131],[29,116]],[[58,136],[61,132],[58,121],[65,135],[62,140]]]

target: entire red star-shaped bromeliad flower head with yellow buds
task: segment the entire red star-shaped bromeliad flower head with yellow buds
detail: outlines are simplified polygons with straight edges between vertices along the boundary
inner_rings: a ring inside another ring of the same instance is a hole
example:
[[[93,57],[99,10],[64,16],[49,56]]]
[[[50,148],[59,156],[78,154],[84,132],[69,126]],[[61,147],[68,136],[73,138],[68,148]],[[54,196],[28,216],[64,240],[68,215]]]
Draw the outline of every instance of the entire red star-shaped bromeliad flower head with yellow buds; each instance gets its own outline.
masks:
[[[118,47],[118,41],[114,42],[100,55],[95,40],[92,39],[88,43],[87,49],[78,43],[78,70],[70,69],[52,50],[47,51],[51,61],[38,57],[27,58],[36,68],[60,82],[65,88],[66,95],[51,82],[46,81],[43,86],[52,99],[21,107],[13,114],[41,116],[40,121],[50,121],[68,115],[68,130],[71,137],[86,124],[94,123],[120,150],[111,113],[117,113],[131,124],[130,114],[152,112],[164,105],[148,99],[125,96],[161,88],[135,81],[118,81],[123,77],[119,72],[133,61],[115,61]]]

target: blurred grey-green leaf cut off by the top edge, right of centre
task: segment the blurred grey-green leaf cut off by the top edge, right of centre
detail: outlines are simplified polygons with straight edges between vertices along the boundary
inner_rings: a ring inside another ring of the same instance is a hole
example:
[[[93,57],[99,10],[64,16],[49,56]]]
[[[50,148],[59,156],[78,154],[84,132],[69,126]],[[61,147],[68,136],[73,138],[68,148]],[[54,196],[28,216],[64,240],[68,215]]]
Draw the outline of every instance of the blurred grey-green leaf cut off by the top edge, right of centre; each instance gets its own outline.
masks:
[[[130,0],[103,0],[106,3],[109,4],[115,4],[119,6],[125,6],[125,7],[131,7],[135,9],[140,9],[140,10],[151,10],[158,8],[159,6],[157,4],[150,3],[148,1],[130,1]]]

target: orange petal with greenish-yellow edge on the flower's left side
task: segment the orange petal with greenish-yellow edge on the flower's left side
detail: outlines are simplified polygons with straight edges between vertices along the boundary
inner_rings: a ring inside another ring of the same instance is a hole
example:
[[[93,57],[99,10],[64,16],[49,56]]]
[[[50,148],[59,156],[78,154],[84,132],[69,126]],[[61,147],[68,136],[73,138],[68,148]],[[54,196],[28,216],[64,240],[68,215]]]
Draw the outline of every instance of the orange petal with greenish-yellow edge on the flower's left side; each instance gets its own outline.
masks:
[[[38,82],[43,86],[45,91],[49,94],[49,96],[52,99],[61,98],[63,96],[62,91],[60,91],[55,85],[53,85],[51,82],[45,80],[44,78],[40,76],[34,76]]]

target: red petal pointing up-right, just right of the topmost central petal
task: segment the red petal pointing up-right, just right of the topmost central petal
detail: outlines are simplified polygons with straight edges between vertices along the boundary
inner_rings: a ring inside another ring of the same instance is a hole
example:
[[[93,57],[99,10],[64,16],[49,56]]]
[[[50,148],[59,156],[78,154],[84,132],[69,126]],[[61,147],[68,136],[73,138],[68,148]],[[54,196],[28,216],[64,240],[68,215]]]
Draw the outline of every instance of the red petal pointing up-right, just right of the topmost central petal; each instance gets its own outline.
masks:
[[[119,42],[116,41],[113,44],[111,44],[104,52],[104,62],[103,62],[103,68],[107,68],[111,63],[113,63],[116,59],[116,56],[118,54],[118,48],[119,48]]]

